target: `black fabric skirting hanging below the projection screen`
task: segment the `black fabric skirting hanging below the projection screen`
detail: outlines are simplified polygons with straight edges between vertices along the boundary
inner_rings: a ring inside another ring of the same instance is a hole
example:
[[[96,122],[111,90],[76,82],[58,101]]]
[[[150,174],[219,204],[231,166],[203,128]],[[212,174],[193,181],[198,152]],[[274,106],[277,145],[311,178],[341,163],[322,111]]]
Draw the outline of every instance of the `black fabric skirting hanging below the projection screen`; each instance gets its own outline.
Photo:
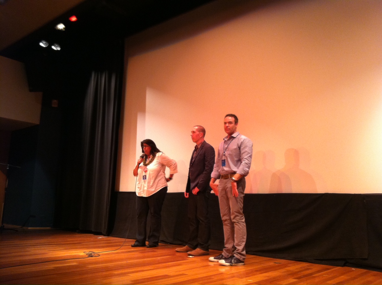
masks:
[[[117,193],[114,237],[135,238],[135,193]],[[222,250],[219,201],[211,194],[210,249]],[[246,194],[248,254],[382,271],[382,195],[337,193]],[[185,245],[187,199],[167,193],[161,243]]]

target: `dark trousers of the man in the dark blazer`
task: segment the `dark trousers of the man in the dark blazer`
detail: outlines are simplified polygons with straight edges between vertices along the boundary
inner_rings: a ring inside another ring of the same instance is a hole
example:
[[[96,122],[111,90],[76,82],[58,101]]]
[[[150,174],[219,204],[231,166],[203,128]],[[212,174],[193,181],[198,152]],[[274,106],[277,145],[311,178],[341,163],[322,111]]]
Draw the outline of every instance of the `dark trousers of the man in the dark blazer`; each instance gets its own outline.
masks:
[[[188,195],[188,220],[190,235],[187,245],[191,248],[201,248],[208,251],[210,245],[211,229],[208,217],[208,200],[210,191],[198,192],[197,195]]]

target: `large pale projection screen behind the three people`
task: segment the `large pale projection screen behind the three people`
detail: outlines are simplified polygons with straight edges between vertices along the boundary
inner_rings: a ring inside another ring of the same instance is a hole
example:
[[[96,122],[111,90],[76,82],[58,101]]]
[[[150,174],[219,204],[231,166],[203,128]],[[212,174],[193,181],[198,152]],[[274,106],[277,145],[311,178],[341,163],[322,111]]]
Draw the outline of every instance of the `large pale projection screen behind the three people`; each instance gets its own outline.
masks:
[[[191,128],[217,151],[233,113],[253,141],[246,193],[381,193],[381,47],[381,1],[307,0],[129,56],[117,190],[134,191],[151,138],[178,163],[168,191],[184,192]]]

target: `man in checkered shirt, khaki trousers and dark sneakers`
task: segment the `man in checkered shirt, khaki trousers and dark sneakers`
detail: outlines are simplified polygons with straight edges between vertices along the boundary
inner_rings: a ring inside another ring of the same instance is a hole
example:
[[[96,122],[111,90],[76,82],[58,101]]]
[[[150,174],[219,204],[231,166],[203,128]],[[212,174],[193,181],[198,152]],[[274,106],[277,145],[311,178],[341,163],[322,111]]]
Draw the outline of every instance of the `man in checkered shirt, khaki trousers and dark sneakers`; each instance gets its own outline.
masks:
[[[238,118],[227,114],[224,118],[224,131],[227,136],[219,145],[211,174],[210,186],[219,196],[220,215],[224,229],[223,253],[210,257],[209,261],[225,266],[244,265],[246,258],[245,242],[247,230],[243,214],[245,176],[252,161],[253,143],[236,131]],[[219,185],[215,181],[219,180]]]

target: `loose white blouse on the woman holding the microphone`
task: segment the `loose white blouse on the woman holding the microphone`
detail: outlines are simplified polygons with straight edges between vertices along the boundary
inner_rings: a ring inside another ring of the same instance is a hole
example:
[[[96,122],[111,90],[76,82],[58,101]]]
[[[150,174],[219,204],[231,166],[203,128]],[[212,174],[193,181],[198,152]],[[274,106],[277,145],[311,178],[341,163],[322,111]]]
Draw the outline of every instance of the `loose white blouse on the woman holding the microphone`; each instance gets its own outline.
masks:
[[[145,166],[143,163],[138,167],[138,181],[135,192],[137,196],[148,197],[167,186],[165,169],[170,168],[170,174],[178,172],[178,164],[162,152],[157,153],[152,163]],[[147,167],[147,172],[143,169]],[[143,176],[146,179],[143,180]]]

